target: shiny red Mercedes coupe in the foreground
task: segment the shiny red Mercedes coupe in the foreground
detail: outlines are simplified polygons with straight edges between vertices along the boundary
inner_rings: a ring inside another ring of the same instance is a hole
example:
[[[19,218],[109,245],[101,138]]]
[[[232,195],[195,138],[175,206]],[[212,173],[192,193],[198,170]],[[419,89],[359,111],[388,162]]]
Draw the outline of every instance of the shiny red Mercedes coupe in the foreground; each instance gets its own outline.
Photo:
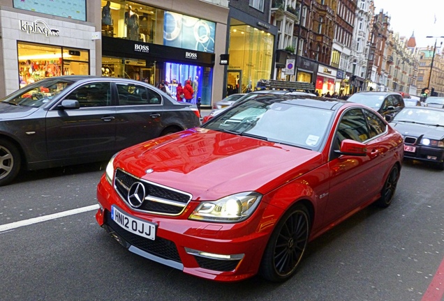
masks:
[[[191,275],[285,281],[309,241],[390,206],[403,152],[364,105],[264,93],[114,155],[96,219],[130,252]]]

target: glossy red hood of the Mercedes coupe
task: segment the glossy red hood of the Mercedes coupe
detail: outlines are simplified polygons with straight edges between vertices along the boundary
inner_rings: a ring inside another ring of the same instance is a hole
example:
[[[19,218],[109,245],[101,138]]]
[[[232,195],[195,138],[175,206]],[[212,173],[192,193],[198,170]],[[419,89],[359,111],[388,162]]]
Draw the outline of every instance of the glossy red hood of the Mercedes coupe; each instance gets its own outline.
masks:
[[[127,148],[114,162],[139,178],[191,193],[195,200],[212,200],[237,192],[269,192],[316,169],[323,156],[193,128]]]

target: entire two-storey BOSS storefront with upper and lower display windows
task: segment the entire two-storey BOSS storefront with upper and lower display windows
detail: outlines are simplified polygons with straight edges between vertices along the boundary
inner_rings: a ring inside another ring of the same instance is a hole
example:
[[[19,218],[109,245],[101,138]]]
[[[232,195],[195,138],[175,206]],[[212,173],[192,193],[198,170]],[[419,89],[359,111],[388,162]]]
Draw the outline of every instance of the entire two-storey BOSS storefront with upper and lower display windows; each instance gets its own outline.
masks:
[[[165,81],[173,96],[179,83],[190,80],[191,102],[200,98],[211,106],[213,98],[221,99],[224,66],[215,57],[225,52],[228,7],[184,3],[102,0],[102,75],[155,86]]]

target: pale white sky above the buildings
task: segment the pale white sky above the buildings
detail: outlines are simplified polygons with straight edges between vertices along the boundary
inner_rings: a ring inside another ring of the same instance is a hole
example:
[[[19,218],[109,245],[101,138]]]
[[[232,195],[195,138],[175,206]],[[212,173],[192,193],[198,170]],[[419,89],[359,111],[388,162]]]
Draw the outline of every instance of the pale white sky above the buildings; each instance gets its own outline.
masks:
[[[391,17],[390,28],[399,36],[410,38],[415,33],[417,47],[433,46],[435,38],[426,36],[444,36],[443,0],[373,0],[375,13],[381,9]],[[444,38],[438,39],[444,43]]]

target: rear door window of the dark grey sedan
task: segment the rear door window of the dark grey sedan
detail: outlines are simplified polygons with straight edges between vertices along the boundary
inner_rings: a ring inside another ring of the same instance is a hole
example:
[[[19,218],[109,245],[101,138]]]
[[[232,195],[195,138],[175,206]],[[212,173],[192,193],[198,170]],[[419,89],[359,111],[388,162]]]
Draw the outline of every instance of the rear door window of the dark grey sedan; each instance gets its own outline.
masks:
[[[145,86],[119,83],[119,105],[161,105],[162,97]]]

